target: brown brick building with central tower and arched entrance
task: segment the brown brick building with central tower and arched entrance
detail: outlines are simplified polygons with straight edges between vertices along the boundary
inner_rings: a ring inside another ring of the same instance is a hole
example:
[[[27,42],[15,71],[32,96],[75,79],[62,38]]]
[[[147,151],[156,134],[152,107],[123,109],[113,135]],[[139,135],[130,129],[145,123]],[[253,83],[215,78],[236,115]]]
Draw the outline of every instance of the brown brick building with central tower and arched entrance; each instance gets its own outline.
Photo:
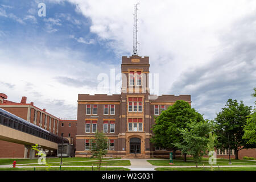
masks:
[[[149,57],[123,56],[121,94],[78,95],[76,156],[90,155],[89,139],[96,130],[109,139],[108,156],[129,157],[136,153],[137,157],[150,158],[160,152],[150,143],[154,116],[177,100],[191,104],[191,96],[151,95],[149,67]]]

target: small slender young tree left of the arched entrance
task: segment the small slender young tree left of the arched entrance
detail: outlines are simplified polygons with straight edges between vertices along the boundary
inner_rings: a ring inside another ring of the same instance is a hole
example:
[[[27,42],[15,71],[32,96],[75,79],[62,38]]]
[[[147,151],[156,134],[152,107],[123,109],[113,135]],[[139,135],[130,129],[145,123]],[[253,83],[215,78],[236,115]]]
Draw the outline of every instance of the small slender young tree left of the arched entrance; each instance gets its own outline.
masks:
[[[102,158],[108,153],[108,138],[104,133],[96,131],[95,138],[90,139],[90,143],[90,152],[92,153],[92,158],[97,158],[97,167],[100,170]]]

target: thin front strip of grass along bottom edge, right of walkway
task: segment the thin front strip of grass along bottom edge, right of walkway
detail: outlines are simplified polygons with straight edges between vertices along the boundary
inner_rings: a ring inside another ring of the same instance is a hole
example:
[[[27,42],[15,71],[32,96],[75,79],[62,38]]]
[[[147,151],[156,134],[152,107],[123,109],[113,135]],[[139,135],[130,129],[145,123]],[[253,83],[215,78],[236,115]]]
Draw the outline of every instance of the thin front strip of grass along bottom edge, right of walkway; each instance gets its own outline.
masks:
[[[210,171],[209,167],[190,167],[190,168],[171,168],[171,167],[158,167],[156,171]],[[213,171],[218,171],[218,167],[213,168]],[[220,167],[220,171],[256,171],[255,167]]]

